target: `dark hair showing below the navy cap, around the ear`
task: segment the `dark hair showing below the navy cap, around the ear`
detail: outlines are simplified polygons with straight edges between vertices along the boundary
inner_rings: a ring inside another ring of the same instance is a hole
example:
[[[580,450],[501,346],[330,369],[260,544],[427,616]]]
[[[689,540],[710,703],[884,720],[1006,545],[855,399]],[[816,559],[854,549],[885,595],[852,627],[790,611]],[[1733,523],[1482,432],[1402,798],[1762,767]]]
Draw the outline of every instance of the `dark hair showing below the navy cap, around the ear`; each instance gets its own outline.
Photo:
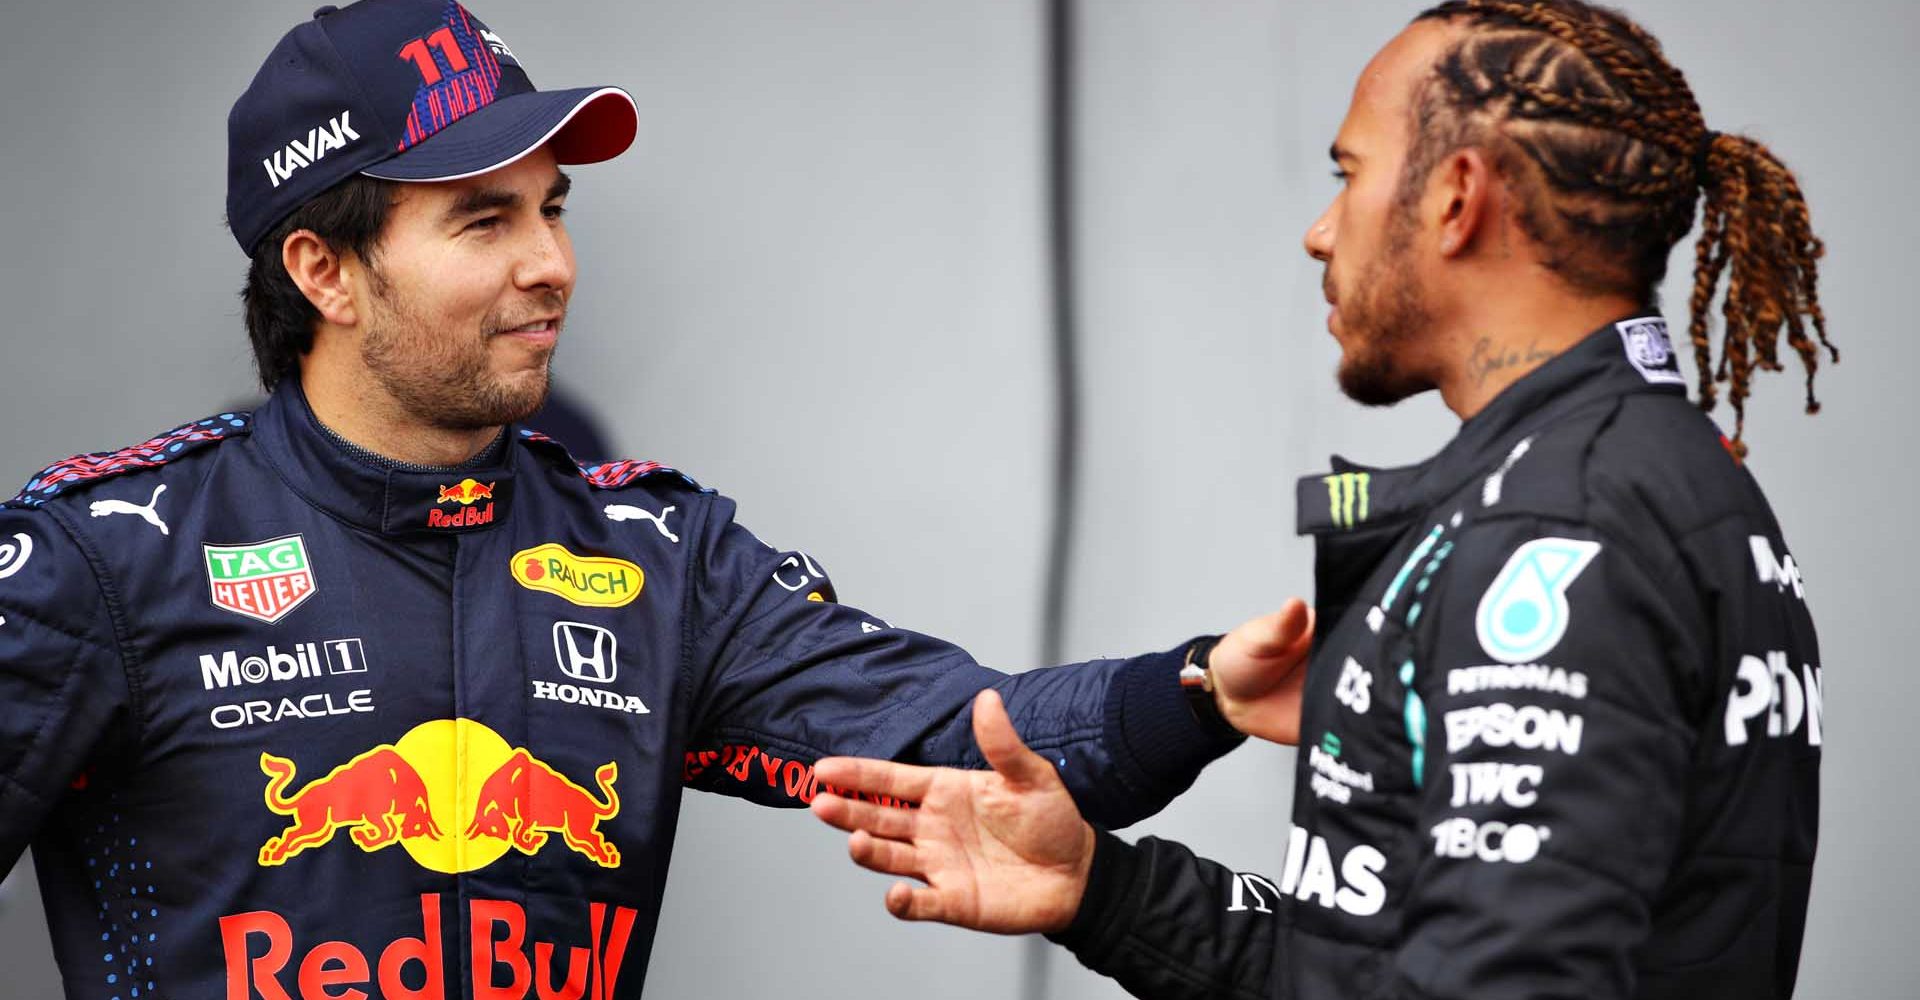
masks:
[[[253,370],[267,392],[300,370],[300,355],[313,349],[313,324],[321,319],[286,273],[280,259],[286,238],[301,228],[313,230],[328,250],[353,253],[372,271],[374,250],[394,207],[394,184],[378,177],[348,177],[294,209],[253,246],[240,301],[246,303],[246,336],[253,342]]]

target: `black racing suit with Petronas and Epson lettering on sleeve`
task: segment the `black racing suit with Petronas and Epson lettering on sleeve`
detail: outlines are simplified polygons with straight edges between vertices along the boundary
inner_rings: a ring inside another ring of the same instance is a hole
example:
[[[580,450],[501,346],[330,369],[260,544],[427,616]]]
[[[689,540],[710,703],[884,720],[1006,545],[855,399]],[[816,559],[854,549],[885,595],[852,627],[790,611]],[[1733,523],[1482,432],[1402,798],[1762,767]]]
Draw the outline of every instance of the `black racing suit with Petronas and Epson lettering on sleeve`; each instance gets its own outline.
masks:
[[[1430,461],[1300,484],[1321,631],[1279,873],[1102,833],[1058,937],[1139,996],[1788,996],[1820,655],[1665,322]]]

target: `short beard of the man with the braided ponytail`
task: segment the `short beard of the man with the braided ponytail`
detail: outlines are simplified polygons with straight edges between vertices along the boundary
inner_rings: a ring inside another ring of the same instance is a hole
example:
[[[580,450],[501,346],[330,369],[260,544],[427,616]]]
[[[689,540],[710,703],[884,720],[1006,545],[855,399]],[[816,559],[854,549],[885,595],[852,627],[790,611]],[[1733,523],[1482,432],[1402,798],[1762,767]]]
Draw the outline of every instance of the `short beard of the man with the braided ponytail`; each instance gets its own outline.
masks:
[[[1365,407],[1390,407],[1434,388],[1430,376],[1407,369],[1409,347],[1432,326],[1427,288],[1411,267],[1411,219],[1396,213],[1386,246],[1340,296],[1346,338],[1336,378],[1340,392]]]

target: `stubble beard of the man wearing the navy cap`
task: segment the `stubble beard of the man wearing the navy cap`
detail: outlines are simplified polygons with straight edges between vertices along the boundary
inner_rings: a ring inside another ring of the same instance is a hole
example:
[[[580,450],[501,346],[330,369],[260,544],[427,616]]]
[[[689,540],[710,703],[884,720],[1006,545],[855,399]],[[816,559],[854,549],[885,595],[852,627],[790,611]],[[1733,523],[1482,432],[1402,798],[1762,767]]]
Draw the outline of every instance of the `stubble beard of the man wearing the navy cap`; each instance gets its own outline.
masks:
[[[451,330],[388,290],[376,290],[374,301],[361,363],[415,420],[444,430],[484,430],[524,420],[547,401],[553,351],[538,369],[509,374],[488,369],[488,342],[513,328],[505,317],[490,313],[478,330]]]

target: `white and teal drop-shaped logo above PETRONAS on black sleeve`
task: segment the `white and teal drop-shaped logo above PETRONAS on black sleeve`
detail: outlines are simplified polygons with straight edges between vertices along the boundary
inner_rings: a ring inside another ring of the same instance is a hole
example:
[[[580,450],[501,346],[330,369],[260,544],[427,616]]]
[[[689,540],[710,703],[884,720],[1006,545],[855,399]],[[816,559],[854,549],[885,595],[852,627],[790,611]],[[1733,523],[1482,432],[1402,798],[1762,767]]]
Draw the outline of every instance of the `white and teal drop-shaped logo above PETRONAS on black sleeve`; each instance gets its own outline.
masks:
[[[1536,537],[1521,545],[1480,595],[1480,649],[1503,664],[1538,660],[1567,635],[1567,587],[1599,555],[1597,541]]]

